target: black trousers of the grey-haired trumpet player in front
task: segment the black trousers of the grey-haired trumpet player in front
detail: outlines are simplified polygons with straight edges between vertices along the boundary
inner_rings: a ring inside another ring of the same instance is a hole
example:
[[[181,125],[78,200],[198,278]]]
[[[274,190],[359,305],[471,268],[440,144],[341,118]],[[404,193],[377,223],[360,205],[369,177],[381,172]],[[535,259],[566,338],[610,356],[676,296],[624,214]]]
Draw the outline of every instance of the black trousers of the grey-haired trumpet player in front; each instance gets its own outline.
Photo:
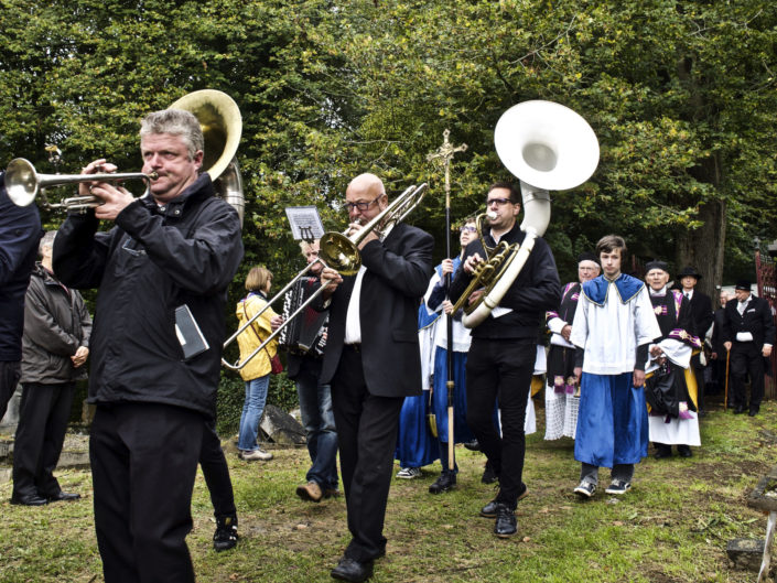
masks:
[[[205,424],[168,404],[97,407],[89,457],[106,583],[194,581],[185,538]]]

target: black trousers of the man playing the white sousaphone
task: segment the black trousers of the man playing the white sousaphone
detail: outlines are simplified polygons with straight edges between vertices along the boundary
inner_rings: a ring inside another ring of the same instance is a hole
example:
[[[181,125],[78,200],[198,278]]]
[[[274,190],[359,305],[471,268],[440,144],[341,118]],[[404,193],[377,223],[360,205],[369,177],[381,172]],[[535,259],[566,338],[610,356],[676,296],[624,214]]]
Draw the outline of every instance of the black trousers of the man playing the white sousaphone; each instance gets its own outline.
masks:
[[[473,338],[466,361],[467,424],[499,475],[497,501],[511,508],[522,489],[526,406],[536,358],[535,338]],[[493,421],[497,399],[501,436]]]

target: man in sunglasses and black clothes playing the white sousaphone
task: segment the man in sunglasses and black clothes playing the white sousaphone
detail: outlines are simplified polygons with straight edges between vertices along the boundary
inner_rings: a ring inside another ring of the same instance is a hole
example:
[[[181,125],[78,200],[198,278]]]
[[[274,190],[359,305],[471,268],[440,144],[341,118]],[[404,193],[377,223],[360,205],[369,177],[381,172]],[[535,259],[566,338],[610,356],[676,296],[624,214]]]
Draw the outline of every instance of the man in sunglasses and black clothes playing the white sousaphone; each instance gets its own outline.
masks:
[[[526,233],[516,224],[520,213],[518,190],[497,182],[486,196],[488,233],[485,245],[499,241],[521,244]],[[451,301],[458,301],[472,281],[478,263],[487,258],[479,240],[466,248],[466,258],[451,283]],[[524,423],[537,357],[537,331],[544,313],[555,310],[561,284],[550,247],[537,238],[522,270],[488,317],[472,331],[466,363],[467,424],[499,476],[496,499],[481,510],[481,516],[496,518],[494,533],[500,538],[518,530],[515,510],[528,492],[522,481],[526,436]],[[475,302],[482,290],[470,296]],[[501,410],[501,436],[494,427],[497,399]]]

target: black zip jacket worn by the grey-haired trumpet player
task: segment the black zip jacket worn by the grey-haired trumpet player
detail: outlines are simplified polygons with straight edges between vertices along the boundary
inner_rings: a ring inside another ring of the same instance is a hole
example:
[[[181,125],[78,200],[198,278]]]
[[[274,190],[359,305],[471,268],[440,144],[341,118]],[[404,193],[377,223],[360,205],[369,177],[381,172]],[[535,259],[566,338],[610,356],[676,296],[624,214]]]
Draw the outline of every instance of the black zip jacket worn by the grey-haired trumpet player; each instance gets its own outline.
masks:
[[[240,220],[207,174],[160,210],[151,197],[96,233],[71,214],[54,240],[66,285],[98,288],[89,402],[157,402],[215,414],[227,287],[242,258]],[[209,349],[184,360],[175,309],[186,304]]]

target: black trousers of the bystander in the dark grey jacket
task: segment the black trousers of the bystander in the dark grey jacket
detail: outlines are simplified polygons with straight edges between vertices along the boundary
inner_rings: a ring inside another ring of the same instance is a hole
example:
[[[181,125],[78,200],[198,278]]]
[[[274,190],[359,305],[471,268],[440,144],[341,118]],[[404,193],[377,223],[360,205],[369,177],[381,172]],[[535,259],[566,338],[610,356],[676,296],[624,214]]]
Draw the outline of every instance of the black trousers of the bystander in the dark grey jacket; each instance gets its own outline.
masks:
[[[13,440],[13,494],[54,496],[54,468],[65,442],[75,382],[22,385],[19,424]]]

